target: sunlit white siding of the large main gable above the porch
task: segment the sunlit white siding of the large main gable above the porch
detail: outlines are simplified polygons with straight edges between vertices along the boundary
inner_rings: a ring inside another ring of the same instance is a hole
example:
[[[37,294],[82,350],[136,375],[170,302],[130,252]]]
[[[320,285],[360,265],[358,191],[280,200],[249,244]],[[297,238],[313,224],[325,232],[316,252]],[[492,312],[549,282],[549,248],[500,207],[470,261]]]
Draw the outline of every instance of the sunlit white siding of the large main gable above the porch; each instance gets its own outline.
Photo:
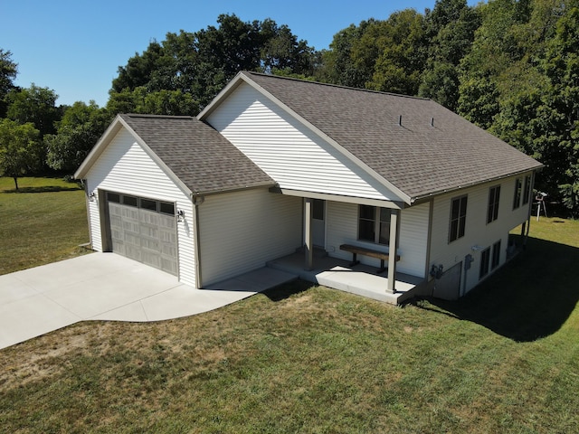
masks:
[[[399,200],[248,84],[234,90],[207,120],[282,189]]]

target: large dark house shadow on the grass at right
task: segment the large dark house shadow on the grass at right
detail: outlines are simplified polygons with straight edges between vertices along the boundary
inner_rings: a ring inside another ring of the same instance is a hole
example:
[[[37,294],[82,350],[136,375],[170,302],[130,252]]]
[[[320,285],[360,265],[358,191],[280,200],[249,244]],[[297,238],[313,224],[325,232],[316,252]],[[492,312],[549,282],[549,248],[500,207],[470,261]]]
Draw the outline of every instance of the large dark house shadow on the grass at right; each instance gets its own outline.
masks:
[[[527,250],[466,297],[429,301],[445,315],[483,325],[517,342],[530,342],[554,334],[565,324],[579,301],[577,282],[579,249],[529,238]]]

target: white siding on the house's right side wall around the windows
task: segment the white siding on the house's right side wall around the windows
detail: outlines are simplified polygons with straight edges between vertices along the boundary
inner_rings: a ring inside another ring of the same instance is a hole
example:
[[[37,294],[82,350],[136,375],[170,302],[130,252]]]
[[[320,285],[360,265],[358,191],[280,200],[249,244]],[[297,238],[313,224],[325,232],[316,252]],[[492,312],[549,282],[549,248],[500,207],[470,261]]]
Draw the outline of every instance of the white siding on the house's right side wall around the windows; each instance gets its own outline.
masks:
[[[521,176],[519,175],[518,178],[520,179]],[[503,193],[506,197],[514,196],[515,180],[516,177],[501,180],[501,196]],[[472,255],[474,261],[466,273],[466,290],[464,292],[468,292],[479,283],[479,263],[482,251],[500,241],[503,251],[500,255],[499,265],[502,265],[507,257],[504,250],[508,247],[508,232],[525,222],[528,217],[528,205],[513,210],[510,200],[501,200],[498,203],[498,219],[492,224],[487,224],[489,188],[494,185],[497,185],[497,183],[480,184],[463,189],[460,193],[444,194],[434,199],[430,265],[442,265],[444,270],[451,269],[452,266],[463,261],[466,255]],[[458,195],[464,194],[467,194],[469,198],[466,231],[462,238],[449,244],[451,200]],[[461,284],[461,294],[463,290],[464,282]]]

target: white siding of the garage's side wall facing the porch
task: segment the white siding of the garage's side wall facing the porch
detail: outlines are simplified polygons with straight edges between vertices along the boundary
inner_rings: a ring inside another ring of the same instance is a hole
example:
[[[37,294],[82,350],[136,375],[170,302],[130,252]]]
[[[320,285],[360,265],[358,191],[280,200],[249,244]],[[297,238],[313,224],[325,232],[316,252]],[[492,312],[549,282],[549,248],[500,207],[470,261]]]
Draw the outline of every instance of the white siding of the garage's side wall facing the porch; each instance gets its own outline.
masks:
[[[252,189],[199,205],[203,286],[265,266],[301,245],[301,198]]]

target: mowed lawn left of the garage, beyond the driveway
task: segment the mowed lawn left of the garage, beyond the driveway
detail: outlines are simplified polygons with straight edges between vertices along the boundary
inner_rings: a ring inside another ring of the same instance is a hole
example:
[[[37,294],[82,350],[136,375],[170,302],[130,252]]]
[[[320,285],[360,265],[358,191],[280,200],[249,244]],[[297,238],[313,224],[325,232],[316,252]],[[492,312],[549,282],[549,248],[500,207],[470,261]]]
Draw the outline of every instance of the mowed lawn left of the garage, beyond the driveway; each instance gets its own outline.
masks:
[[[60,178],[0,178],[0,274],[71,258],[89,241],[84,193]]]

